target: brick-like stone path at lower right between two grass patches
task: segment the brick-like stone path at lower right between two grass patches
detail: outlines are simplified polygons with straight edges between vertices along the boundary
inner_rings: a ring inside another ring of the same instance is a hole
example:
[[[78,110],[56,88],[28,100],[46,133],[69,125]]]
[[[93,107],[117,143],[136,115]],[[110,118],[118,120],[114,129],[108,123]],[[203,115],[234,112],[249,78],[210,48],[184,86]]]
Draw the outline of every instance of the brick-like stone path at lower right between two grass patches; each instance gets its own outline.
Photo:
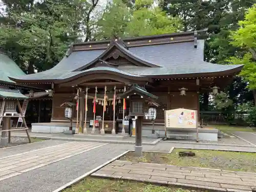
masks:
[[[106,165],[92,176],[217,191],[251,192],[256,187],[256,173],[119,160]]]

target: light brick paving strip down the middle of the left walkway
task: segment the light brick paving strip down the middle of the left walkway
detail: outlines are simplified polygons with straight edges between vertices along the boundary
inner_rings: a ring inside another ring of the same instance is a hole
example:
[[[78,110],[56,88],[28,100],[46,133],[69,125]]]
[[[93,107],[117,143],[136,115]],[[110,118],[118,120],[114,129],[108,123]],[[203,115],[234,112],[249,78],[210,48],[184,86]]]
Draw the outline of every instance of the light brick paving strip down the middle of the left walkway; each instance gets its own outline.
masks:
[[[103,145],[105,144],[95,142],[68,142],[55,145],[54,147],[45,147],[34,151],[2,157],[0,158],[0,181]],[[6,150],[8,150],[8,148]]]

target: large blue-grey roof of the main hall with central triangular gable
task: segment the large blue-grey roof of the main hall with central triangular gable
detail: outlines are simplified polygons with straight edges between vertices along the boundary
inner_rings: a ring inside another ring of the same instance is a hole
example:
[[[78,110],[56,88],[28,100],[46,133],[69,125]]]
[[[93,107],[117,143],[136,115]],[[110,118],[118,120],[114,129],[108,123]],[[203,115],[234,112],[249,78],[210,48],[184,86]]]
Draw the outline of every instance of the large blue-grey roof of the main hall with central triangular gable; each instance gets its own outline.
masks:
[[[142,63],[142,66],[118,66],[113,70],[120,75],[142,77],[193,77],[234,75],[243,65],[218,65],[205,62],[204,40],[195,37],[196,32],[124,38],[125,46],[115,40],[80,42],[73,44],[67,55],[54,68],[37,74],[11,77],[17,82],[55,82],[63,78],[87,73],[88,68],[98,62],[113,48]],[[108,63],[105,62],[106,67]],[[97,71],[98,68],[90,68]],[[109,69],[105,69],[111,71]]]

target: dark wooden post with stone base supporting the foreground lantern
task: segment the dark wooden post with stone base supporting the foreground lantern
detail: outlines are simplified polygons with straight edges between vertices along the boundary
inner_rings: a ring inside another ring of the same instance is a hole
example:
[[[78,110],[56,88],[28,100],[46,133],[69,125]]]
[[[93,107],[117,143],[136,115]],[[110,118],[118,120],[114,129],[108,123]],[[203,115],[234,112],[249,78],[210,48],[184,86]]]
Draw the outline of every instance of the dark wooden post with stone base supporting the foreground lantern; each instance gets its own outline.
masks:
[[[138,116],[136,120],[136,135],[135,135],[135,154],[142,156],[142,116]]]

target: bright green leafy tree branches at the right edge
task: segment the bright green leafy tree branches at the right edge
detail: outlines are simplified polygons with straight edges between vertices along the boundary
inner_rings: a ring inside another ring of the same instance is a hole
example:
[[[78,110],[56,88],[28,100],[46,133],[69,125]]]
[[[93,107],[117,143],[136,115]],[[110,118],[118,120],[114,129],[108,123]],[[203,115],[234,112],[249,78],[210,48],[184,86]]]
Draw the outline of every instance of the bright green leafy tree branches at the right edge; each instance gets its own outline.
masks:
[[[231,64],[244,64],[240,76],[248,82],[247,86],[252,90],[256,104],[256,5],[248,9],[245,19],[238,25],[238,30],[230,32],[230,44],[244,51],[237,52],[237,55],[230,57],[228,61]]]

